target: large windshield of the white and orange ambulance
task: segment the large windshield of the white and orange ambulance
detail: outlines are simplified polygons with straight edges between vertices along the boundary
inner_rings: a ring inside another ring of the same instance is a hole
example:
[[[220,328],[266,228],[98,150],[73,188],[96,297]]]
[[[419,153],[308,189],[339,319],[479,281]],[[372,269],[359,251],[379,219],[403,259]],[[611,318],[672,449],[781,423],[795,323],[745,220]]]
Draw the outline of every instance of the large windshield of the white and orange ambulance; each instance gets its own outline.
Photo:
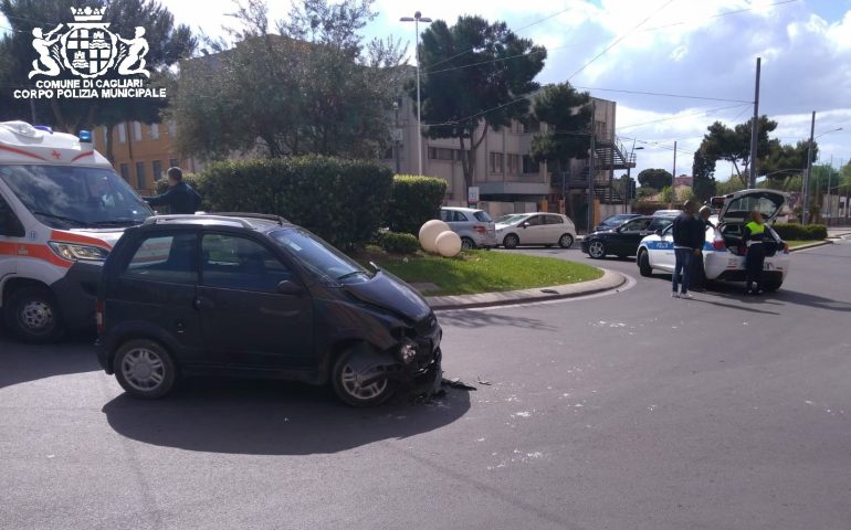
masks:
[[[30,213],[53,229],[130,226],[154,214],[109,169],[4,165],[0,179]]]

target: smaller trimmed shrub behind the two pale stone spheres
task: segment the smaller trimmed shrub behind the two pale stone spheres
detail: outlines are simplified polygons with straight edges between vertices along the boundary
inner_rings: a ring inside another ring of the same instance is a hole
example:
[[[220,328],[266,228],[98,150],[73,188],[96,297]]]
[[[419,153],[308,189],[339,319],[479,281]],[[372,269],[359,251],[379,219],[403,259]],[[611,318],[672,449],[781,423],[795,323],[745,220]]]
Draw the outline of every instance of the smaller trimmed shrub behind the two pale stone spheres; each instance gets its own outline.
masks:
[[[446,181],[434,177],[397,176],[387,225],[393,232],[418,234],[426,221],[439,219]]]

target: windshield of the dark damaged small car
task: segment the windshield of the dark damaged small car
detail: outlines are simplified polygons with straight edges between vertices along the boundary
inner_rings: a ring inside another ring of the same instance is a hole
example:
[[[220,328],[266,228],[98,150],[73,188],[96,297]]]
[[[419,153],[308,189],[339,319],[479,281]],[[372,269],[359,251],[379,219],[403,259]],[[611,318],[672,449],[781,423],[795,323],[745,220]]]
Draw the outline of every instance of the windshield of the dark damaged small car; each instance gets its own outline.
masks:
[[[272,240],[319,278],[333,282],[364,282],[372,275],[356,261],[304,229],[272,232]]]

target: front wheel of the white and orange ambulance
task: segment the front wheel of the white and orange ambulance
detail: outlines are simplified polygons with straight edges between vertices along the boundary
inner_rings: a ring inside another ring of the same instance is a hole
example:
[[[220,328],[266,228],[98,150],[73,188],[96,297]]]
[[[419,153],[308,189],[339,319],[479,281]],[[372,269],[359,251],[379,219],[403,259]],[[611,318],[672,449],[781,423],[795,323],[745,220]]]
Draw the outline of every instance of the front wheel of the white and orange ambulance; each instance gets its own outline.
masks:
[[[56,297],[46,287],[22,287],[3,304],[6,326],[25,342],[55,342],[65,333]]]

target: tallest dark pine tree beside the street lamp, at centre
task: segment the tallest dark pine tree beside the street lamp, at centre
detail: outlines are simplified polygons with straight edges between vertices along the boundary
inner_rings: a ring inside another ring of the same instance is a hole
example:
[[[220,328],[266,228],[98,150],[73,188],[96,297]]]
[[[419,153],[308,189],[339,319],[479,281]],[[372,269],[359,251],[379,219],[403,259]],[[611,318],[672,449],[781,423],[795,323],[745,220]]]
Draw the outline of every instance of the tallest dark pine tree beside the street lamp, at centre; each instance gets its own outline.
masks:
[[[422,119],[431,124],[430,138],[459,141],[467,187],[487,128],[527,116],[528,96],[539,86],[534,78],[545,59],[543,46],[518,38],[504,22],[481,17],[460,17],[453,26],[437,20],[422,33]],[[414,86],[409,94],[416,99]]]

